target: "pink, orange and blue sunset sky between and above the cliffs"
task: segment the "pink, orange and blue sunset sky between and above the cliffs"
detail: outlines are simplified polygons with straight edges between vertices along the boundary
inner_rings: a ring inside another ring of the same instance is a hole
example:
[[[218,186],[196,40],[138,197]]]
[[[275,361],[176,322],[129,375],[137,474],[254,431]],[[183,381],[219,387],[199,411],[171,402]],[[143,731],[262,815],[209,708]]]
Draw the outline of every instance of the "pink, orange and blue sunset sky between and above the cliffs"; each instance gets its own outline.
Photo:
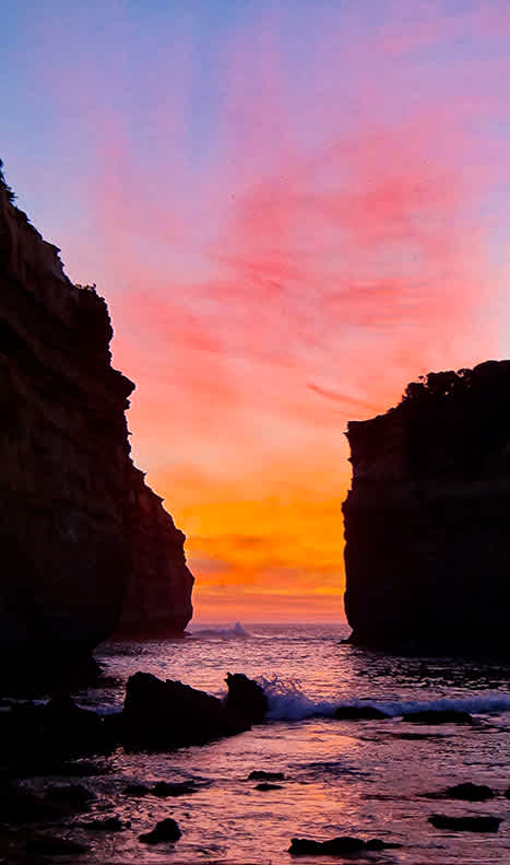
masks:
[[[342,621],[347,422],[510,353],[510,4],[4,0],[0,39],[7,179],[108,301],[197,619]]]

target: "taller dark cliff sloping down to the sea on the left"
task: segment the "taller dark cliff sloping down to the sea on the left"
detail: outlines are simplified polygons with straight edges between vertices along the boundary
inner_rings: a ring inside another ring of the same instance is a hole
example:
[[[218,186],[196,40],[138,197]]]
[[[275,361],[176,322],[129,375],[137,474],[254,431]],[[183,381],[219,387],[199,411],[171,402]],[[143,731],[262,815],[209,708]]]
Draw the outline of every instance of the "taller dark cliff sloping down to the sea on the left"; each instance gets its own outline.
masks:
[[[149,598],[152,550],[159,560],[165,543],[176,545],[171,556],[186,572],[179,583],[176,564],[168,582],[188,593],[167,593],[169,620],[174,605],[182,627],[182,610],[191,613],[183,536],[168,533],[161,500],[129,457],[124,411],[134,385],[111,366],[111,336],[105,301],[70,282],[59,249],[14,207],[0,172],[3,653],[93,647],[118,622],[133,570]],[[142,489],[145,505],[133,501]]]

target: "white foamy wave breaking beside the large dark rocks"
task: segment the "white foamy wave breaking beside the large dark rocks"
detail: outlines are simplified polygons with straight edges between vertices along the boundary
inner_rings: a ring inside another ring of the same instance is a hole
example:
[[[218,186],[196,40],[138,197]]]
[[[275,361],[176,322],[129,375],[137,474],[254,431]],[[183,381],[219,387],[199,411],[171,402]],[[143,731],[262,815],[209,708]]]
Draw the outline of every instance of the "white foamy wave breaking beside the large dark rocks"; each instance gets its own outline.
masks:
[[[373,706],[392,717],[424,710],[470,712],[474,715],[510,712],[510,694],[486,694],[470,698],[440,698],[437,700],[312,700],[296,680],[285,681],[277,676],[260,677],[270,703],[268,716],[274,721],[304,721],[308,717],[328,717],[340,706]]]

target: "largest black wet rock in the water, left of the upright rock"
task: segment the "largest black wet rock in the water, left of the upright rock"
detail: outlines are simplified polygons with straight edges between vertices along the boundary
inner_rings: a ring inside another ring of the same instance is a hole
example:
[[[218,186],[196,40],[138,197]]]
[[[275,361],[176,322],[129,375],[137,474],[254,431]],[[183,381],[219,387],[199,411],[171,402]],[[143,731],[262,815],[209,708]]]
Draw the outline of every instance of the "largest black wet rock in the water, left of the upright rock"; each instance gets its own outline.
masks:
[[[201,745],[249,729],[249,723],[204,691],[149,673],[128,680],[122,711],[124,743],[143,748]]]

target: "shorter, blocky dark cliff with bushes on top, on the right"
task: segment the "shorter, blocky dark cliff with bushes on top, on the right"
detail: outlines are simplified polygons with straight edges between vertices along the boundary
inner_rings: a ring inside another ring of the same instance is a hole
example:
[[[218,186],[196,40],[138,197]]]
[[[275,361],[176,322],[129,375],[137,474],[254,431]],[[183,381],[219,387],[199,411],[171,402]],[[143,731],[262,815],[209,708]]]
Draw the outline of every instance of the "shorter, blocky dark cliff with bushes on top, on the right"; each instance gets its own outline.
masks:
[[[431,373],[347,439],[353,642],[507,652],[510,361]]]

